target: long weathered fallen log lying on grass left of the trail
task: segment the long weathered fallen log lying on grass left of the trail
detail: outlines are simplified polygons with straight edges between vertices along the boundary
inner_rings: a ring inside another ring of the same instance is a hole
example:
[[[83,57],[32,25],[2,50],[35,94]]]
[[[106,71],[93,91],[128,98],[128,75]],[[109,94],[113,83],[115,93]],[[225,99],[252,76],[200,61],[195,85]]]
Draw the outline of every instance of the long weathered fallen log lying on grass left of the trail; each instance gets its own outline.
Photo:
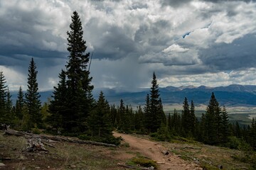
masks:
[[[72,143],[78,143],[78,144],[87,144],[87,145],[97,145],[97,146],[104,146],[104,147],[117,147],[117,145],[113,144],[107,144],[102,142],[94,142],[90,140],[78,140],[75,137],[63,137],[63,136],[50,136],[50,135],[36,135],[33,133],[28,132],[20,132],[16,130],[4,130],[6,135],[15,135],[15,136],[23,136],[26,137],[26,139],[31,139],[32,137],[35,138],[41,138],[42,140],[54,140],[59,142],[72,142]]]

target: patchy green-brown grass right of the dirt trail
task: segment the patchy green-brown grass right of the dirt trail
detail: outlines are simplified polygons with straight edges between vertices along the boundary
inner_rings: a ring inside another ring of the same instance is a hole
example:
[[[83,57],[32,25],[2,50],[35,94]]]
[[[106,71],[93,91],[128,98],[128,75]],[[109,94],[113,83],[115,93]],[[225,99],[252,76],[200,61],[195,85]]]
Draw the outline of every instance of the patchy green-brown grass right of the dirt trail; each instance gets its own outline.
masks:
[[[164,142],[164,147],[168,148],[172,153],[177,154],[181,159],[198,162],[205,169],[218,169],[222,165],[224,169],[252,169],[252,164],[242,161],[242,159],[234,159],[236,157],[245,157],[246,152],[225,147],[214,147],[203,145],[199,142]]]

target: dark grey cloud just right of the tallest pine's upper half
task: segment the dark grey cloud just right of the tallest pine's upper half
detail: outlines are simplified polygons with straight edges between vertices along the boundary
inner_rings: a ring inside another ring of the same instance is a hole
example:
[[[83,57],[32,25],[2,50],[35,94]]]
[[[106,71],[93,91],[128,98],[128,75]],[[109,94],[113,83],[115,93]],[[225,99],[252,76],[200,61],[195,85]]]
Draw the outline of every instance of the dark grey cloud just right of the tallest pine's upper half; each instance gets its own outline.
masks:
[[[127,57],[131,52],[137,52],[137,44],[126,35],[122,28],[110,26],[107,23],[99,26],[99,22],[97,18],[92,18],[86,24],[86,28],[94,33],[85,35],[93,45],[94,58],[118,60]]]

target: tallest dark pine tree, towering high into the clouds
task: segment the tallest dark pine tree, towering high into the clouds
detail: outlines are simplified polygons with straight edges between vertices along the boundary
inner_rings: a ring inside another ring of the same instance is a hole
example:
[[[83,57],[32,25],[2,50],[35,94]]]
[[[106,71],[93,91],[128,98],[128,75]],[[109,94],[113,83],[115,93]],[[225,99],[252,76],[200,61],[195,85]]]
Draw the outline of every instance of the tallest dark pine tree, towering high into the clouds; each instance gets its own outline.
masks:
[[[76,11],[73,12],[70,31],[68,31],[68,56],[66,65],[67,85],[68,85],[68,113],[70,121],[67,122],[66,130],[70,132],[84,132],[86,130],[86,119],[92,110],[93,98],[90,85],[92,77],[87,70],[87,63],[90,54],[84,54],[87,46],[82,35],[82,23]]]

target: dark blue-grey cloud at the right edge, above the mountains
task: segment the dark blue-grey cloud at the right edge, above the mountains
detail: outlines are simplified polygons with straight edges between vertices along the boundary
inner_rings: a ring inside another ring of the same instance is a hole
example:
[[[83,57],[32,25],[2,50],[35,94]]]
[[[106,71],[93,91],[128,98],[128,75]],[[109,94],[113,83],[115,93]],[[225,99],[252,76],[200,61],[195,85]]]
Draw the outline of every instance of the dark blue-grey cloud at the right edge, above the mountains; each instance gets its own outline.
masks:
[[[218,71],[247,69],[256,65],[255,35],[245,35],[230,44],[219,43],[201,50],[199,58],[203,64]]]

